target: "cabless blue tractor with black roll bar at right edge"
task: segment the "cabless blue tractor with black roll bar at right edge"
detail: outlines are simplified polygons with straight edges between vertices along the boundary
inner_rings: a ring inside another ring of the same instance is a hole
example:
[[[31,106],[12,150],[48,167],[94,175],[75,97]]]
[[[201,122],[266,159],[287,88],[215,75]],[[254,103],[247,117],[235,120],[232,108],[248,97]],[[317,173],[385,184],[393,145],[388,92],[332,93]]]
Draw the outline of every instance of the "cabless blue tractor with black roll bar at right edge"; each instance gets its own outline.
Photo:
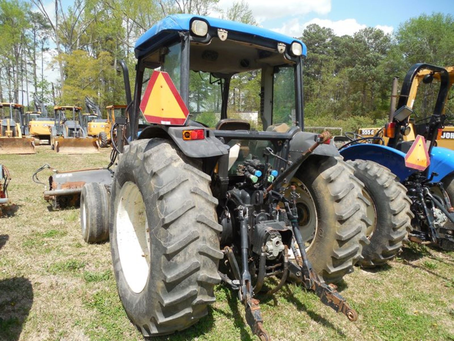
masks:
[[[410,123],[409,117],[415,112],[410,109],[413,103],[409,101],[415,97],[416,77],[423,71],[426,73],[424,83],[432,83],[434,78],[439,80],[438,95],[432,115]],[[392,120],[384,128],[384,136],[389,138],[387,145],[381,137],[359,136],[341,147],[341,155],[350,160],[355,167],[355,176],[365,183],[365,192],[375,210],[375,224],[372,224],[375,227],[368,231],[370,245],[363,249],[365,259],[362,264],[365,266],[383,264],[398,251],[405,240],[404,232],[398,232],[405,211],[413,217],[408,235],[410,241],[454,250],[454,152],[436,146],[446,120],[444,105],[448,90],[449,74],[444,68],[413,65],[403,81]],[[412,131],[415,131],[416,139],[405,141],[404,136]],[[373,143],[360,143],[365,140]],[[385,172],[388,179],[379,179]],[[394,181],[391,178],[395,178]],[[400,182],[397,187],[406,192],[403,196],[400,191],[401,199],[397,201],[397,192],[390,191],[390,185],[396,187],[396,181]],[[393,202],[397,204],[390,207]],[[409,202],[411,213],[406,209]]]

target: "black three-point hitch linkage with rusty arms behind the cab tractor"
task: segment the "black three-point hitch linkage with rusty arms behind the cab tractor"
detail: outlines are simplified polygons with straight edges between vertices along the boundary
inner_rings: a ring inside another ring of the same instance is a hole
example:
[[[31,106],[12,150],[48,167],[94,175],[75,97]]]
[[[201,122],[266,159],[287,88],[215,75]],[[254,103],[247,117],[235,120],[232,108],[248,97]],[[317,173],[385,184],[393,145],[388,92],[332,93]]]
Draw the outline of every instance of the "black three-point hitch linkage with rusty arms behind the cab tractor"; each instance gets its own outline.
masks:
[[[281,230],[281,232],[289,232],[289,237],[291,239],[292,249],[294,244],[299,247],[301,257],[296,257],[297,264],[293,264],[288,261],[288,249],[287,246],[284,246],[283,250],[283,272],[281,273],[281,280],[278,285],[267,292],[267,294],[274,294],[282,286],[284,286],[289,272],[294,276],[301,278],[301,281],[307,290],[312,290],[320,298],[320,301],[326,306],[331,307],[336,312],[344,314],[349,321],[356,321],[358,319],[358,313],[352,309],[344,297],[342,297],[337,291],[336,286],[327,285],[321,281],[320,277],[313,270],[311,262],[307,258],[304,241],[301,236],[301,232],[298,226],[298,213],[296,209],[296,187],[291,186],[291,199],[286,198],[281,193],[273,191],[274,187],[277,187],[284,179],[291,174],[292,171],[297,169],[304,160],[311,155],[311,153],[316,149],[318,145],[328,141],[331,138],[331,135],[327,132],[319,135],[316,143],[312,145],[308,150],[306,150],[302,155],[297,158],[291,165],[289,165],[285,171],[279,175],[276,180],[266,189],[266,196],[271,196],[275,201],[284,203],[285,210],[282,210],[282,213],[286,215],[288,221],[291,222],[291,230],[284,231],[287,226],[279,225],[279,223],[273,224],[273,229]],[[272,150],[268,150],[268,153],[272,155]],[[228,196],[228,194],[227,194]],[[233,198],[229,198],[233,199]],[[222,281],[226,282],[234,290],[239,290],[239,297],[242,303],[245,306],[246,310],[246,321],[247,324],[251,327],[252,332],[257,335],[262,341],[271,340],[270,336],[263,328],[263,318],[260,310],[259,300],[254,298],[254,293],[258,293],[262,289],[263,281],[265,279],[265,258],[266,258],[266,246],[262,247],[262,252],[260,253],[260,261],[258,268],[258,276],[255,286],[252,285],[252,276],[249,272],[248,266],[248,211],[245,206],[239,205],[237,207],[237,220],[240,225],[240,242],[241,250],[241,270],[237,264],[236,258],[234,256],[234,250],[231,247],[226,246],[223,250],[224,258],[226,264],[230,265],[231,273],[235,277],[234,280],[230,279],[226,274],[219,272]],[[266,223],[266,222],[264,222]],[[269,223],[268,223],[269,224]],[[271,229],[269,230],[271,231]],[[298,255],[296,248],[292,250],[295,255]]]

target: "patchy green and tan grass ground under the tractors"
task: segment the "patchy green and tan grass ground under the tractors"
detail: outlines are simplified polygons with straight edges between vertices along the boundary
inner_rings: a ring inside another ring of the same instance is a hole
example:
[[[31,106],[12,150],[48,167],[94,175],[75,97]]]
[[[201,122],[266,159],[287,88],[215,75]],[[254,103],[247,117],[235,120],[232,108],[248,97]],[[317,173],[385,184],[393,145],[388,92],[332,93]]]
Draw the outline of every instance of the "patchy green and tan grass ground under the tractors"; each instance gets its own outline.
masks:
[[[97,155],[0,155],[13,180],[13,216],[0,218],[0,340],[142,340],[123,311],[109,243],[87,245],[79,209],[52,211],[31,181],[44,163],[64,170],[104,166]],[[41,173],[46,180],[50,171]],[[454,340],[454,253],[411,244],[388,266],[356,268],[339,290],[359,312],[351,323],[294,285],[261,300],[273,340]],[[273,280],[268,285],[276,284]],[[156,340],[256,340],[244,309],[226,286],[209,315],[186,331]]]

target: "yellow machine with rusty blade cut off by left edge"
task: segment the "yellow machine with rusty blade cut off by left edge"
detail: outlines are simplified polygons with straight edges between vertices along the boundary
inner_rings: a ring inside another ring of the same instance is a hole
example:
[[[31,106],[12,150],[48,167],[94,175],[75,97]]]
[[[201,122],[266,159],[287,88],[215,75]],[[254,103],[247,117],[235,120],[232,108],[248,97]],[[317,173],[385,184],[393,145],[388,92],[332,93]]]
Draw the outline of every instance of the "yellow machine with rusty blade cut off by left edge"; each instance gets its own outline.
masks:
[[[22,105],[0,103],[0,154],[35,154],[34,138],[27,136]]]

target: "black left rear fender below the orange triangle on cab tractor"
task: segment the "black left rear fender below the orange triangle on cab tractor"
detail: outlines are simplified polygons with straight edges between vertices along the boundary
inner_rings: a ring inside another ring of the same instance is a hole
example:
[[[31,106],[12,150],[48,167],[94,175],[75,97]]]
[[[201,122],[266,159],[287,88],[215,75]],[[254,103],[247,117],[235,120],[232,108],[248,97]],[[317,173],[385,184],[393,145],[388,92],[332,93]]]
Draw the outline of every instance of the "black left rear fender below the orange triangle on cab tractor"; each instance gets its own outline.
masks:
[[[203,129],[205,138],[203,140],[183,140],[183,130]],[[166,126],[149,125],[140,132],[138,140],[160,137],[173,140],[184,155],[193,158],[205,158],[212,156],[226,155],[230,147],[218,140],[212,130],[200,126]]]

